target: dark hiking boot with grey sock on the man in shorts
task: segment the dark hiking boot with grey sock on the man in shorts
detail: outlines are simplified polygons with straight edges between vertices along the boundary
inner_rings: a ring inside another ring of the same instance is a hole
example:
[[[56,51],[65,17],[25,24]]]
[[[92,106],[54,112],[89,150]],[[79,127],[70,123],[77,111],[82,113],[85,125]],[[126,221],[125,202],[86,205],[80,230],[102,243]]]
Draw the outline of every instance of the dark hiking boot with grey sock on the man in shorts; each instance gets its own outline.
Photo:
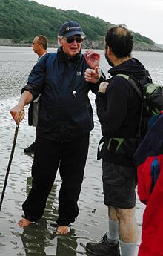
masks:
[[[98,256],[120,256],[119,242],[109,243],[107,233],[99,243],[87,243],[86,251]]]

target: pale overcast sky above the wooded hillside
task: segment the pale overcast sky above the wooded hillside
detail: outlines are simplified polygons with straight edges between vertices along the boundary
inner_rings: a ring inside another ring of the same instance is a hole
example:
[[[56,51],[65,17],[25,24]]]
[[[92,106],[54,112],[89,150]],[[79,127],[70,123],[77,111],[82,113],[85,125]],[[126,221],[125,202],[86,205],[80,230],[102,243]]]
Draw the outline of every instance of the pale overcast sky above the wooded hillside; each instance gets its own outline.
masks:
[[[163,0],[35,0],[39,4],[99,17],[163,44]]]

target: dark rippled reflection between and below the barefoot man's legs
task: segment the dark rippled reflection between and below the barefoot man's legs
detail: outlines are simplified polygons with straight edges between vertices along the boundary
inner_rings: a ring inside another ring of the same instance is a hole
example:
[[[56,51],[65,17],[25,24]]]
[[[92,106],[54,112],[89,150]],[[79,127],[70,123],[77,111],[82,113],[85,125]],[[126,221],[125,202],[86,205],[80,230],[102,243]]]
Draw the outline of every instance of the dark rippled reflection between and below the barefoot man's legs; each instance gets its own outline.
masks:
[[[30,191],[32,177],[27,178],[27,194]],[[71,229],[66,236],[56,235],[57,209],[53,202],[56,200],[57,184],[54,183],[50,195],[47,199],[44,217],[36,223],[24,228],[21,240],[24,246],[25,255],[56,255],[56,256],[76,256],[77,240],[75,230]]]

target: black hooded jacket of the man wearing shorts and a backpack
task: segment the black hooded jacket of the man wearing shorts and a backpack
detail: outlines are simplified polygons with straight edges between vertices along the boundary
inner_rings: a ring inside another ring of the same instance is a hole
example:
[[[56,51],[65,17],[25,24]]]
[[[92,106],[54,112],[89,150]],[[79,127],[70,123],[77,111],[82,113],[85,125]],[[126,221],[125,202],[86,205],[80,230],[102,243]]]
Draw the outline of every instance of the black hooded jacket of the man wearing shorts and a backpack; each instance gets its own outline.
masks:
[[[116,75],[119,73],[133,75],[145,84],[148,82],[148,72],[141,62],[133,58],[111,68],[109,73],[113,78],[110,80],[106,93],[97,93],[96,95],[97,114],[105,139],[101,157],[116,165],[133,166],[130,153],[134,152],[126,151],[125,154],[119,154],[118,151],[115,153],[107,149],[110,138],[132,138],[135,143],[134,138],[138,131],[141,113],[142,101],[136,91],[127,79]]]

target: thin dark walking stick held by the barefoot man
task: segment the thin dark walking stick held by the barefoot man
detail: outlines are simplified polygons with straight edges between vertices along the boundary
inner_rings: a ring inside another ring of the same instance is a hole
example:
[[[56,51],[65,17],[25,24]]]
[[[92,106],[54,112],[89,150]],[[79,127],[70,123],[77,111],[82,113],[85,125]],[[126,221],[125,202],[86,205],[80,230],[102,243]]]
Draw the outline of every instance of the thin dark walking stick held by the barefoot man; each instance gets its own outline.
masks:
[[[19,114],[19,122],[20,122],[22,114],[24,114],[24,111],[21,111],[20,114]],[[16,147],[16,139],[17,139],[18,130],[19,130],[19,122],[18,122],[18,125],[16,124],[15,134],[14,134],[14,137],[13,137],[13,146],[12,146],[12,149],[11,149],[10,159],[9,159],[8,166],[7,166],[6,177],[5,177],[5,180],[4,180],[4,188],[1,192],[0,211],[1,211],[1,205],[2,205],[2,202],[3,202],[3,199],[4,199],[5,189],[6,189],[6,186],[7,186],[7,179],[8,179],[8,174],[9,174],[9,171],[10,171],[10,166],[11,166],[11,163],[12,163],[12,160],[13,160],[13,153],[14,153],[14,150],[15,150],[15,147]]]

